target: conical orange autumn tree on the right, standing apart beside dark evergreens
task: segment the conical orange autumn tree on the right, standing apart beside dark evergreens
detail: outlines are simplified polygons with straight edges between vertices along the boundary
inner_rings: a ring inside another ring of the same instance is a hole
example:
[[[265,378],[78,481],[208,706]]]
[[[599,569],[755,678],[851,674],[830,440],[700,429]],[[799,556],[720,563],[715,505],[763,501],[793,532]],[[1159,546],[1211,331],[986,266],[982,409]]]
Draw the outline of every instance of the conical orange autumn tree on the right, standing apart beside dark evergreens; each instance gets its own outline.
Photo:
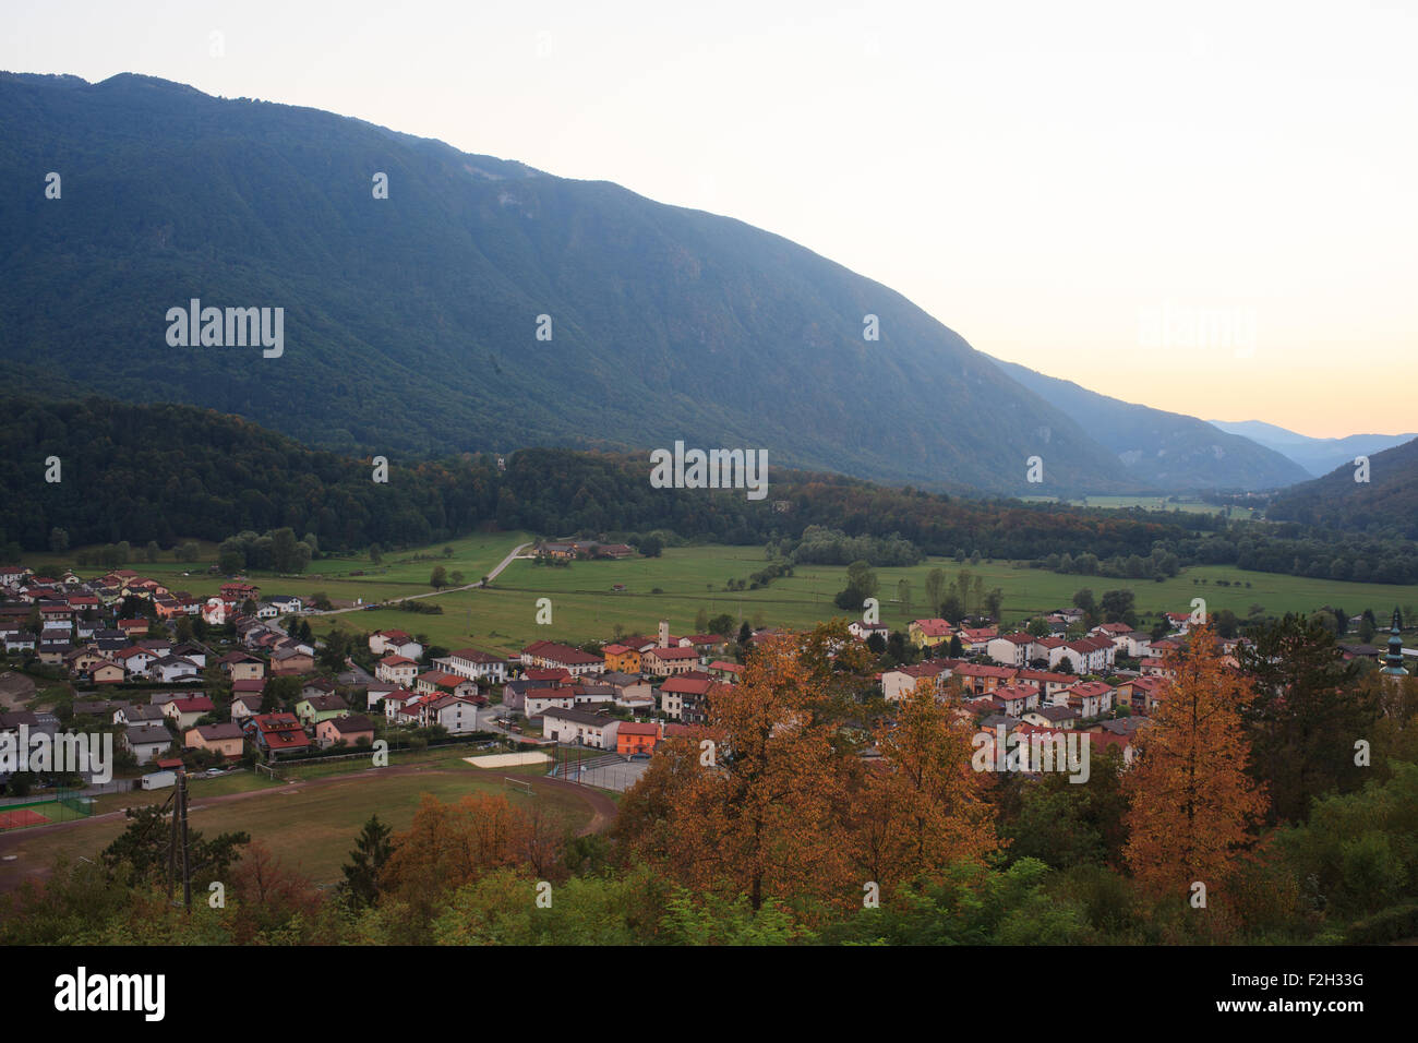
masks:
[[[1254,690],[1205,626],[1168,663],[1176,680],[1153,727],[1133,739],[1124,857],[1153,894],[1180,898],[1195,881],[1215,894],[1266,809],[1265,786],[1246,773],[1251,744],[1241,727],[1239,707]]]

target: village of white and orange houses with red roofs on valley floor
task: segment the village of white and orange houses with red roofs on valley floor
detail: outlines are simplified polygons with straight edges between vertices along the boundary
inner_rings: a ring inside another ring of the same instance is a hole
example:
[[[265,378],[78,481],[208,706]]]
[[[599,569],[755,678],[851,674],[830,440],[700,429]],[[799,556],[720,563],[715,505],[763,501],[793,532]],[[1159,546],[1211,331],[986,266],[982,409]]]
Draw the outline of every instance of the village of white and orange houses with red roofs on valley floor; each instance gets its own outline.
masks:
[[[545,545],[550,555],[579,549]],[[308,606],[299,597],[262,595],[244,578],[200,599],[132,569],[81,579],[3,566],[0,596],[7,660],[50,668],[75,692],[65,719],[45,708],[7,710],[0,731],[112,727],[129,771],[149,773],[367,751],[407,734],[647,759],[662,739],[708,724],[715,692],[743,674],[740,643],[781,633],[672,634],[661,620],[654,636],[580,647],[539,640],[519,654],[475,647],[434,654],[440,650],[404,630],[377,630],[364,639],[369,656],[330,663],[302,623]],[[133,614],[123,614],[125,606]],[[1126,623],[1085,630],[1076,607],[1011,633],[986,619],[916,619],[905,640],[919,661],[883,668],[864,698],[881,697],[889,715],[922,683],[942,694],[953,688],[956,712],[984,732],[1081,731],[1130,758],[1132,736],[1166,698],[1167,656],[1195,622],[1190,613],[1164,619],[1170,633],[1159,639]],[[885,624],[861,620],[848,631],[873,651],[891,637]],[[1222,640],[1232,664],[1242,641]],[[1377,649],[1349,646],[1344,654],[1377,658]]]

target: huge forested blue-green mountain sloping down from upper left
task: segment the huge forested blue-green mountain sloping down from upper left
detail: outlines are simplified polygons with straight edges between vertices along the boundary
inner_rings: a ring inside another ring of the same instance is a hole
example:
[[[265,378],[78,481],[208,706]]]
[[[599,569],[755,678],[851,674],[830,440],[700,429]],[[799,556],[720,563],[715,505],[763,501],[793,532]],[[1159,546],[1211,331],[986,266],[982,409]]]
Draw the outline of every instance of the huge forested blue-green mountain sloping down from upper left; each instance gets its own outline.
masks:
[[[0,193],[0,365],[33,392],[404,458],[683,440],[943,490],[1140,487],[900,294],[617,184],[130,74],[0,74],[0,177],[31,189]],[[190,298],[284,308],[284,352],[169,346]]]

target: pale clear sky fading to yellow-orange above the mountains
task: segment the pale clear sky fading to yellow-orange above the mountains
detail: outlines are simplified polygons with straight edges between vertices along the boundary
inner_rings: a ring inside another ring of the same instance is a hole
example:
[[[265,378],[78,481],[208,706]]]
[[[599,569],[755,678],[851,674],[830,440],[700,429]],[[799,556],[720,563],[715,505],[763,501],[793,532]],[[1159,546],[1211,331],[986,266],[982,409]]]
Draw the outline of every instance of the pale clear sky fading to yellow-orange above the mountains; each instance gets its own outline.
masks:
[[[737,217],[973,346],[1418,430],[1418,3],[17,4],[0,68],[359,116]]]

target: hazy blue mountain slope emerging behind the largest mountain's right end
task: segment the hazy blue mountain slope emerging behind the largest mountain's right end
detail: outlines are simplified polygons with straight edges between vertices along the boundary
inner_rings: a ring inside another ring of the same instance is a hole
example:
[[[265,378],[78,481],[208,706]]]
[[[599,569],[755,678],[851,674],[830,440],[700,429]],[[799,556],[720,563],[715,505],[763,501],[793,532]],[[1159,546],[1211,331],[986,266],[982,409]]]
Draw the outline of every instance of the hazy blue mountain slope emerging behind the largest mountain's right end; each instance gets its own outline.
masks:
[[[1271,490],[1307,473],[1273,448],[1181,413],[1110,399],[1014,362],[998,366],[1068,413],[1139,481],[1164,490]]]

